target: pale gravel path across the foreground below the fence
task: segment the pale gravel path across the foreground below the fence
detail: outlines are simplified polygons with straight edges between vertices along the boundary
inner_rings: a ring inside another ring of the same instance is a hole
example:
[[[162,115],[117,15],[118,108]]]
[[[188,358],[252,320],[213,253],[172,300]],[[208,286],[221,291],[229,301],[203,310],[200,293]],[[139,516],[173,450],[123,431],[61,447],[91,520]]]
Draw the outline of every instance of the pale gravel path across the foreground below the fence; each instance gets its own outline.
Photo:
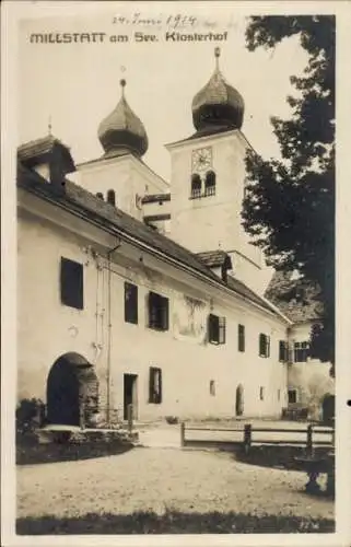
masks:
[[[306,475],[256,467],[229,453],[138,447],[121,455],[17,467],[17,516],[151,510],[334,517],[301,492]]]

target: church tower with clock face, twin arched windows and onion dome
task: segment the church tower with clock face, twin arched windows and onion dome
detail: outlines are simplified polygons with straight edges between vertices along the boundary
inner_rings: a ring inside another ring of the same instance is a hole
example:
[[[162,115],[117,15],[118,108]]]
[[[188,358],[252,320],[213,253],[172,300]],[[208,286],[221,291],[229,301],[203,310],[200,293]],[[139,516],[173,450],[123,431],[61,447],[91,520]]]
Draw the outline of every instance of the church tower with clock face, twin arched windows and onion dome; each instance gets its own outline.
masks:
[[[220,70],[220,48],[209,82],[192,100],[196,132],[167,144],[171,153],[172,238],[201,257],[219,249],[232,260],[235,278],[265,289],[262,254],[241,225],[245,155],[249,143],[241,128],[244,100]]]

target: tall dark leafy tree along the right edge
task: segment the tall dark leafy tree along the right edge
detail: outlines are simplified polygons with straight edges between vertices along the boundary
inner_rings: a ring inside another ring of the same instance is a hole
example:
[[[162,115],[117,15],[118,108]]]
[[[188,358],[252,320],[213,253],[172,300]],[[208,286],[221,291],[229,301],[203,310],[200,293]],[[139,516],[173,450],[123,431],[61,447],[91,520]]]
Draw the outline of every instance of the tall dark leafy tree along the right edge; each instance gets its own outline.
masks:
[[[308,54],[291,77],[291,117],[271,118],[281,160],[247,153],[243,225],[278,270],[297,270],[318,288],[323,326],[312,329],[312,354],[335,361],[335,18],[255,16],[247,48],[274,48],[297,35]]]

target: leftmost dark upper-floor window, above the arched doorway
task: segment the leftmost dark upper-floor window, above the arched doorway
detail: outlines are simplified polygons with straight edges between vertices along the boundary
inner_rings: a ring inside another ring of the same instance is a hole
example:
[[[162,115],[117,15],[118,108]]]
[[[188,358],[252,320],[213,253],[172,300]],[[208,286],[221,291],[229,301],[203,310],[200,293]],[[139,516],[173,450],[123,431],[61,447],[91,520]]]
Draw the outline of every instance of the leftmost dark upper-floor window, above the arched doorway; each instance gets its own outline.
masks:
[[[83,310],[83,265],[61,257],[61,303]]]

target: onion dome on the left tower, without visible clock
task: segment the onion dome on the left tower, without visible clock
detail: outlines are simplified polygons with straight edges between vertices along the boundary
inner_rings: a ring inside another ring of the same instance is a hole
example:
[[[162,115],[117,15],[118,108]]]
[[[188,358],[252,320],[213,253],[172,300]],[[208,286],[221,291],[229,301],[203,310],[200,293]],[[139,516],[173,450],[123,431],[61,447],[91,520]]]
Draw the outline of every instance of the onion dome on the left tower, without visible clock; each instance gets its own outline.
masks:
[[[120,80],[121,97],[116,108],[98,127],[98,139],[105,155],[133,153],[142,156],[148,150],[148,136],[142,121],[125,97],[126,80]]]

